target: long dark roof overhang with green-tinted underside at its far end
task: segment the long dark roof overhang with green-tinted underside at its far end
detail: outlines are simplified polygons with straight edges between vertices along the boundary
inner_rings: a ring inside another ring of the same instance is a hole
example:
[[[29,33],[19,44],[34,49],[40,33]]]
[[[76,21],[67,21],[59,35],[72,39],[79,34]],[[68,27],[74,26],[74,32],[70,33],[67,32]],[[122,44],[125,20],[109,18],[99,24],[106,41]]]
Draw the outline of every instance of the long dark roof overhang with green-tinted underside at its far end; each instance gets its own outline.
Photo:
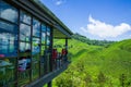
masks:
[[[53,38],[71,38],[73,33],[39,0],[5,0],[51,26]]]

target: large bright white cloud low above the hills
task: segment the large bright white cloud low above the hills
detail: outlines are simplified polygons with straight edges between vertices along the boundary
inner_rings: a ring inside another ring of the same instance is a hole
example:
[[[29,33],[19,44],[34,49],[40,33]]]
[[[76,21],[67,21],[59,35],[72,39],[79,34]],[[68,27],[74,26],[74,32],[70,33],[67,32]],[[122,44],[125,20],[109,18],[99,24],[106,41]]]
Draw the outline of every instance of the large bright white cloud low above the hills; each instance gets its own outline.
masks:
[[[131,32],[131,26],[126,23],[114,26],[111,24],[106,24],[104,22],[97,21],[92,16],[88,17],[88,22],[90,24],[87,24],[87,27],[81,27],[81,30],[102,38],[118,37],[119,35],[122,35],[127,32]]]

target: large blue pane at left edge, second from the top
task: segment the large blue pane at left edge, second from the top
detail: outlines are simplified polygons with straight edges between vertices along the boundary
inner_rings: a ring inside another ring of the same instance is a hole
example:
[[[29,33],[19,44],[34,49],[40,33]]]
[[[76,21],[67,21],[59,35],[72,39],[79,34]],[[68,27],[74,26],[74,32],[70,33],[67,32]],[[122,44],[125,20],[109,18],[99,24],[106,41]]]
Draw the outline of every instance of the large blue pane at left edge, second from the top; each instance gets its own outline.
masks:
[[[7,27],[7,25],[12,27]],[[17,55],[17,27],[0,22],[0,57]]]

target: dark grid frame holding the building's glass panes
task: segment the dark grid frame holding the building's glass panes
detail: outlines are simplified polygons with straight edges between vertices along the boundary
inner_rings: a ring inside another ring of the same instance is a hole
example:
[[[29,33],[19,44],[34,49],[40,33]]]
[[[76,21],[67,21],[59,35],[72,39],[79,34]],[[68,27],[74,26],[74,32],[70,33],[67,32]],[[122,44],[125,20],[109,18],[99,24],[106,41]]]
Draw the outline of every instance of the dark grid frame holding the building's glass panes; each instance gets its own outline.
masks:
[[[3,0],[2,0],[3,1]],[[3,1],[3,2],[5,2],[5,1]],[[8,2],[5,2],[5,3],[8,3]],[[12,4],[10,4],[10,3],[8,3],[9,5],[11,5],[11,7],[13,7]],[[33,62],[33,53],[32,53],[32,49],[33,49],[33,37],[35,37],[35,38],[39,38],[39,45],[40,45],[40,51],[39,51],[39,72],[38,72],[38,74],[39,74],[39,76],[41,75],[40,74],[40,71],[43,71],[41,69],[40,69],[40,65],[41,65],[41,63],[40,63],[40,59],[41,59],[41,57],[44,55],[41,55],[41,46],[44,46],[44,50],[43,51],[45,51],[45,50],[47,50],[47,47],[50,47],[50,44],[49,45],[47,45],[47,28],[48,27],[50,27],[50,25],[47,25],[45,22],[43,22],[43,21],[40,21],[39,18],[36,18],[36,16],[35,15],[33,15],[33,14],[31,14],[29,12],[27,12],[26,10],[24,10],[24,9],[20,9],[19,7],[13,7],[14,9],[16,9],[17,10],[17,23],[14,23],[14,22],[12,22],[12,21],[9,21],[9,20],[7,20],[7,18],[2,18],[2,17],[0,17],[0,21],[3,21],[3,22],[5,22],[5,23],[10,23],[10,24],[12,24],[12,25],[16,25],[17,26],[17,55],[16,57],[9,57],[9,59],[15,59],[16,61],[15,61],[15,74],[16,74],[16,77],[15,77],[15,83],[17,83],[19,85],[21,84],[20,82],[19,82],[19,70],[17,70],[17,67],[19,67],[19,59],[22,57],[21,54],[20,54],[20,47],[21,47],[21,42],[24,42],[24,44],[29,44],[29,47],[31,47],[31,52],[29,52],[29,55],[31,55],[31,69],[28,69],[28,70],[26,70],[26,71],[29,71],[29,73],[28,73],[28,75],[29,75],[29,82],[28,83],[31,83],[32,80],[34,80],[33,78],[32,78],[32,71],[33,71],[33,66],[32,66],[32,64],[34,63]],[[21,21],[21,12],[23,12],[23,13],[25,13],[25,14],[27,14],[29,17],[31,17],[31,24],[28,24],[28,23],[26,23],[26,22],[23,22],[23,21]],[[33,18],[36,18],[38,22],[39,22],[39,36],[37,37],[37,36],[33,36]],[[21,40],[21,37],[20,37],[20,29],[21,29],[21,27],[20,27],[20,25],[21,24],[24,24],[24,25],[27,25],[27,26],[29,26],[29,29],[31,29],[31,40],[29,41],[26,41],[26,40]],[[45,25],[45,32],[41,29],[41,26],[43,26],[43,24]],[[50,28],[50,30],[51,30],[51,28]],[[41,33],[45,33],[45,44],[41,44]],[[51,40],[50,39],[50,37],[51,37],[51,34],[49,35],[49,41]],[[51,42],[51,41],[50,41]],[[50,52],[49,52],[50,53]],[[4,58],[0,58],[0,60],[2,60],[2,59],[4,59]],[[26,72],[25,71],[25,72]],[[47,72],[47,71],[46,71]],[[44,72],[45,73],[45,72]],[[47,73],[48,74],[48,73]],[[39,77],[38,76],[38,77]],[[43,75],[44,76],[44,75]],[[38,78],[37,77],[37,78]]]

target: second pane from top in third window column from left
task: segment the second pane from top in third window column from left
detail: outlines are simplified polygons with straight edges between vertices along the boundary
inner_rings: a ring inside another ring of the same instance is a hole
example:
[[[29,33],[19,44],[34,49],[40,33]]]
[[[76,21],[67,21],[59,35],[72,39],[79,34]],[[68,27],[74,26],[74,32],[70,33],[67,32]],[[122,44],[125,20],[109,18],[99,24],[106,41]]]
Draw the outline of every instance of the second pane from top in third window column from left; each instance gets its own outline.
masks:
[[[33,54],[40,52],[40,39],[39,38],[33,38]]]

